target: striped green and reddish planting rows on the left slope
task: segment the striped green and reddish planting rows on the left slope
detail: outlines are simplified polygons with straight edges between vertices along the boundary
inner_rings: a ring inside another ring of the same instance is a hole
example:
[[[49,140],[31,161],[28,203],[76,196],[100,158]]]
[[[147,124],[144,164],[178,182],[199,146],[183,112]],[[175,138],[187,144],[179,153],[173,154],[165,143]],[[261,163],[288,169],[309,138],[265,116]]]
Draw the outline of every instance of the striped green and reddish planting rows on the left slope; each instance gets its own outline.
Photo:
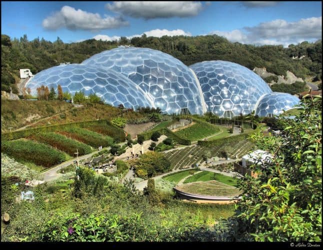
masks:
[[[120,138],[112,138],[106,134],[112,135],[115,129],[107,123],[89,123],[82,128],[77,124],[75,126],[69,124],[48,132],[34,130],[33,133],[31,129],[25,137],[12,140],[2,139],[1,152],[21,162],[32,162],[49,167],[74,156],[76,150],[78,155],[84,155],[99,146],[111,146]]]

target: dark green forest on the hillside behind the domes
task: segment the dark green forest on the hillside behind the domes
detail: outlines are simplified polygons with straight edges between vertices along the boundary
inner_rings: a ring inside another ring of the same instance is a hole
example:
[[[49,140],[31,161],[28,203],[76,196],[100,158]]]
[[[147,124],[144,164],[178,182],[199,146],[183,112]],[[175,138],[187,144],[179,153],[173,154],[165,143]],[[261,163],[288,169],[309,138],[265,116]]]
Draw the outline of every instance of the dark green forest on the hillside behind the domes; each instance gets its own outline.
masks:
[[[39,37],[28,40],[27,35],[11,39],[1,34],[1,90],[17,93],[14,85],[19,81],[19,68],[29,68],[33,74],[59,65],[60,63],[80,63],[84,59],[119,45],[158,49],[191,65],[204,60],[227,60],[239,63],[249,69],[266,67],[268,72],[285,75],[286,70],[297,77],[316,76],[321,79],[322,43],[303,41],[282,45],[255,46],[229,42],[218,35],[162,36],[102,41],[88,39],[82,42],[64,43],[59,37],[54,42]],[[293,57],[296,57],[293,59]],[[304,56],[299,59],[300,56]]]

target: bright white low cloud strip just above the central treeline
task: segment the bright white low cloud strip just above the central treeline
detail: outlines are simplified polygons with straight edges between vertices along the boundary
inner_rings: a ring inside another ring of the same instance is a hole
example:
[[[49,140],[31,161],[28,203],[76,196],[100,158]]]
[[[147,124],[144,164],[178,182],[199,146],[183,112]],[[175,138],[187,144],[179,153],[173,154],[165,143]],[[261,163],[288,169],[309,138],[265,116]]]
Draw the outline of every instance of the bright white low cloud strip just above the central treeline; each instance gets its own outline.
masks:
[[[126,36],[126,38],[131,39],[132,37],[135,37],[135,36],[140,37],[144,33],[146,34],[146,36],[155,36],[155,37],[161,37],[163,35],[168,35],[168,36],[174,36],[174,35],[191,36],[191,33],[185,32],[182,29],[167,30],[167,29],[158,29],[157,28],[157,29],[152,29],[152,30],[149,30],[149,31],[145,31],[145,32],[143,32],[141,34],[129,35],[129,36]],[[108,36],[108,35],[105,35],[105,34],[97,34],[97,35],[93,36],[92,38],[94,38],[95,40],[113,41],[113,40],[120,39],[120,36],[117,36],[117,35]],[[78,40],[78,41],[83,41],[83,40]],[[78,42],[78,41],[76,41],[76,42]]]

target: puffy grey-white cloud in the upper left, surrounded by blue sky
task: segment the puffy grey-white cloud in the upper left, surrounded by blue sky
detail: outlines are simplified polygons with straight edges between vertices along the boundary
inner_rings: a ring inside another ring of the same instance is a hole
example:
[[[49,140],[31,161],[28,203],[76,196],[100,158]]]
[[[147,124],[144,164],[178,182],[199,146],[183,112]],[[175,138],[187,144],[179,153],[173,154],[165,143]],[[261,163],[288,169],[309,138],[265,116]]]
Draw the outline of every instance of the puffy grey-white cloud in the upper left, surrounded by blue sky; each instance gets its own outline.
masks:
[[[76,10],[66,5],[42,21],[42,26],[49,30],[56,30],[61,27],[71,30],[100,30],[128,24],[122,17],[105,16],[102,18],[98,13],[90,13],[81,9]]]

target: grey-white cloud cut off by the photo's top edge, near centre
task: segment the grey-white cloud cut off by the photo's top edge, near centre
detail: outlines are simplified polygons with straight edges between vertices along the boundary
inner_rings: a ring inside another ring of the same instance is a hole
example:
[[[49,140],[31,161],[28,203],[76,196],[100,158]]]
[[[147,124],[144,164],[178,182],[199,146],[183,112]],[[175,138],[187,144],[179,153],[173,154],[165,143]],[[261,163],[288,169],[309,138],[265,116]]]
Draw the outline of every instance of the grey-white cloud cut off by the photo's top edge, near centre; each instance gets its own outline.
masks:
[[[123,15],[145,19],[194,16],[202,10],[199,1],[114,1],[105,7]]]

